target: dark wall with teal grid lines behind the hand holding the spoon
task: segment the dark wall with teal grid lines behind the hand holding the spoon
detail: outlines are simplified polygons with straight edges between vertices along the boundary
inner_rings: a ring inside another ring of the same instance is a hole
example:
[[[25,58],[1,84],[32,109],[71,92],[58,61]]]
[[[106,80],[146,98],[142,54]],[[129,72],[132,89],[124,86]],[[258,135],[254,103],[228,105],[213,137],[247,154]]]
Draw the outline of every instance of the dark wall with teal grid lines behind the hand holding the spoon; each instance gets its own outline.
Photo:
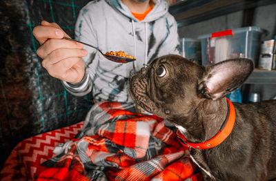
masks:
[[[0,168],[21,140],[84,120],[92,98],[70,95],[41,68],[32,29],[46,20],[73,37],[88,1],[0,1]]]

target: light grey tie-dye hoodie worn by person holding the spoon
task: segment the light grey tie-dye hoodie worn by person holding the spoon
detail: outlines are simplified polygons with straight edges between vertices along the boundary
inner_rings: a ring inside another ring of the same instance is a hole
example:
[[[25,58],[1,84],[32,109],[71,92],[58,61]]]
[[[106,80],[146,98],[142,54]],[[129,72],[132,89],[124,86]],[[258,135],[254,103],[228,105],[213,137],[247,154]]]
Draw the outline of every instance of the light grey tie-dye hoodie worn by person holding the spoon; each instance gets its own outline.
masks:
[[[122,50],[137,60],[121,64],[104,58],[94,48],[85,46],[88,56],[86,75],[78,84],[63,82],[72,95],[90,93],[96,101],[132,102],[128,95],[128,77],[162,55],[179,55],[177,23],[168,13],[164,0],[142,21],[131,14],[120,0],[91,1],[79,12],[75,38],[97,46],[103,53]]]

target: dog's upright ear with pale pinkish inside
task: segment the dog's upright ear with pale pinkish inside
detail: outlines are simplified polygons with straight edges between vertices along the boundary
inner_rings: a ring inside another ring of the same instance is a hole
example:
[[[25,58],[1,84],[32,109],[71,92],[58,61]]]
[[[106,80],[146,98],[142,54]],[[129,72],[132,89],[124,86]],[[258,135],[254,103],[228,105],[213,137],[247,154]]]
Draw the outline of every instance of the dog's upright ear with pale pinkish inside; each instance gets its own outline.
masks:
[[[208,66],[199,82],[199,94],[213,100],[221,99],[242,86],[253,69],[251,59],[229,59]]]

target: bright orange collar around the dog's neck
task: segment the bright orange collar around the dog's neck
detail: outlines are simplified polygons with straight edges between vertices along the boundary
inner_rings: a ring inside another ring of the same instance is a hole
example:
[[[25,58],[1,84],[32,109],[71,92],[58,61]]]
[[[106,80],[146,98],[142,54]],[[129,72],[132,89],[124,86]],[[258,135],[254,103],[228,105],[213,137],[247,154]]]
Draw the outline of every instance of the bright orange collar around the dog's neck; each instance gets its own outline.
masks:
[[[187,146],[188,148],[194,148],[194,149],[210,149],[221,144],[221,142],[223,142],[226,139],[226,137],[228,137],[228,135],[230,135],[230,133],[232,132],[235,124],[235,118],[236,118],[236,112],[232,102],[230,102],[229,99],[227,99],[227,101],[228,101],[228,117],[226,117],[226,120],[224,121],[221,128],[219,129],[219,132],[217,133],[217,135],[212,137],[210,140],[207,140],[206,142],[190,143],[188,142],[186,137],[184,137],[184,135],[180,133],[180,131],[177,131],[177,136],[181,144],[183,144],[184,146]]]

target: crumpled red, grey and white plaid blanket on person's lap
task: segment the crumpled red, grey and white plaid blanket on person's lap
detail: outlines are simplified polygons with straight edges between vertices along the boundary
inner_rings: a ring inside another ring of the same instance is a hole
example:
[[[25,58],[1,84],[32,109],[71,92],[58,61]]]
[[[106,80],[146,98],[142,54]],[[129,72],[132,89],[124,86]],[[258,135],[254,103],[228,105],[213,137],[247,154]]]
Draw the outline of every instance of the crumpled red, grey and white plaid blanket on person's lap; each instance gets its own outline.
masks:
[[[37,180],[202,180],[177,134],[131,104],[99,102],[75,139],[60,144]]]

